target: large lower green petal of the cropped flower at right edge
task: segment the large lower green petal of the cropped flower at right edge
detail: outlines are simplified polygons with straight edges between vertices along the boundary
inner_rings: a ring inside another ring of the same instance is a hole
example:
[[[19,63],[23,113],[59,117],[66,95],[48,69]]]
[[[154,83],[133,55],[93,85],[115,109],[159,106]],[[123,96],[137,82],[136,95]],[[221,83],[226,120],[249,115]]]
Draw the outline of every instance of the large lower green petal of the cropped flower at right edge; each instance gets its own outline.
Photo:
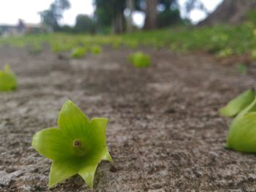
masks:
[[[256,153],[256,112],[247,113],[231,125],[227,147],[240,152]]]

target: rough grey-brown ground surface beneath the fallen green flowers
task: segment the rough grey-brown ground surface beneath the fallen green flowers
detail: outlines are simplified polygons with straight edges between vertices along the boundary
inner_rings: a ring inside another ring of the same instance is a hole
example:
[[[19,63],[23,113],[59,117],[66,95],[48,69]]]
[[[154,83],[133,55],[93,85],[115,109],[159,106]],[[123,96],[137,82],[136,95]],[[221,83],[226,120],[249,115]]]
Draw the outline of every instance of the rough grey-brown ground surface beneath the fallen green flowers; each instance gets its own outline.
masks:
[[[255,86],[209,55],[151,53],[153,66],[134,69],[128,49],[59,59],[45,50],[1,47],[19,88],[0,93],[0,191],[48,191],[50,160],[31,147],[56,126],[66,99],[91,117],[107,117],[114,167],[102,162],[94,191],[256,191],[256,156],[225,150],[229,120],[218,108]],[[72,177],[50,191],[90,191]]]

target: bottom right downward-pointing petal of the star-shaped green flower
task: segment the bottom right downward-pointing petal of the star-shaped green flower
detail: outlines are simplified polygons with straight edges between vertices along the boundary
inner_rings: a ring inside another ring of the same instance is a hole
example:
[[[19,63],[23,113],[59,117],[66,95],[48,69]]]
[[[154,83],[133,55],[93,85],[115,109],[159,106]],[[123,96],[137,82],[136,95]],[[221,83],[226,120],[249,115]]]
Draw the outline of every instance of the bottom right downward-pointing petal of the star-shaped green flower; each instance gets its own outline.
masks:
[[[94,174],[96,172],[97,166],[98,164],[92,166],[83,166],[83,168],[78,171],[78,174],[83,177],[83,180],[86,181],[90,188],[93,188],[94,186]]]

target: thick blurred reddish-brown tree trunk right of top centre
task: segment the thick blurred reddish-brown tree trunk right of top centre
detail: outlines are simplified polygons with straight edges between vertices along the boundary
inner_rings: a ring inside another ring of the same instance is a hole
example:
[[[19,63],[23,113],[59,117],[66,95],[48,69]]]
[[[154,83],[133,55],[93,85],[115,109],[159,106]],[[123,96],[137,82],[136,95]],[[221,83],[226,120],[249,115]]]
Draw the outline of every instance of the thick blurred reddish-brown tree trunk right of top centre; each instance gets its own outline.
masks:
[[[144,29],[157,28],[157,0],[146,0],[146,18]]]

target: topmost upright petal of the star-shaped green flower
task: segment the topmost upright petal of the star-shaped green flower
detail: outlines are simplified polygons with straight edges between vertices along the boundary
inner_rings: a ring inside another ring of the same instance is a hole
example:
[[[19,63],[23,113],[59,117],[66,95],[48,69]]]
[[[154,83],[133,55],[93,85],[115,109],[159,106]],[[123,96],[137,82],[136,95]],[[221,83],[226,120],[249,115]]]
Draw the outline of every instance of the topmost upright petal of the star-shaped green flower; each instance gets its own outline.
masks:
[[[59,128],[72,139],[86,135],[86,128],[89,126],[86,115],[70,100],[61,108],[58,123]]]

